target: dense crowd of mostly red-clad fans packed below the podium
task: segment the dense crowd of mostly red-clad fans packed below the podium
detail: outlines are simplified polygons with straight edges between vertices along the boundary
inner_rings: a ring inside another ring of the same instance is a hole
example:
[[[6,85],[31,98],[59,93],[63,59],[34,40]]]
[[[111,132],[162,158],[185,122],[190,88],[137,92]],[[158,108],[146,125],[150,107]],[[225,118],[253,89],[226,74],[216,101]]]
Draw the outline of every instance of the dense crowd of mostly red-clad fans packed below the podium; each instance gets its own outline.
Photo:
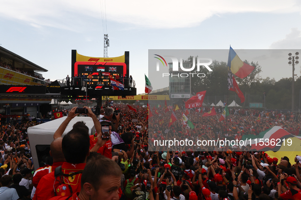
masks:
[[[53,134],[53,162],[35,172],[26,132],[34,122],[2,126],[0,199],[301,199],[301,156],[272,158],[239,146],[161,150],[153,145],[168,137],[241,138],[273,126],[299,135],[298,114],[232,109],[220,122],[194,110],[174,111],[178,119],[187,114],[195,125],[190,129],[180,120],[169,126],[172,112],[164,108],[149,108],[152,117],[141,106],[84,108],[95,134],[89,136],[85,122],[77,122],[62,138],[78,115],[72,108]]]

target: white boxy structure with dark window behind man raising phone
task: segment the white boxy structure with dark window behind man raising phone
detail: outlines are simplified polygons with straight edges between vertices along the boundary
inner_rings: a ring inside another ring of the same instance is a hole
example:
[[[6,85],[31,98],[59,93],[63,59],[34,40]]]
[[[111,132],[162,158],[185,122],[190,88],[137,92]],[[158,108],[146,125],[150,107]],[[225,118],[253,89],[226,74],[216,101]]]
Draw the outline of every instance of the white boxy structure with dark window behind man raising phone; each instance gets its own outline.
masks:
[[[28,137],[35,170],[44,165],[45,160],[52,159],[49,155],[50,144],[53,141],[53,134],[67,117],[61,117],[28,128]],[[89,135],[95,132],[94,123],[91,117],[74,117],[66,127],[63,136],[72,129],[73,124],[84,121],[89,127]],[[75,155],[76,156],[76,155]]]

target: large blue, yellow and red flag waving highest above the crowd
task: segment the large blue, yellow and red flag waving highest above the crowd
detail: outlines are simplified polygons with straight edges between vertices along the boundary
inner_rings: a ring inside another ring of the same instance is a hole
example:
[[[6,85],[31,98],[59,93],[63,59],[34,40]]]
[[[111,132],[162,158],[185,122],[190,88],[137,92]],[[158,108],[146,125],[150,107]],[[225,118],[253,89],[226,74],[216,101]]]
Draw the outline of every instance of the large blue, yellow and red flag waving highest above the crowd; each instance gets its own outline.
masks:
[[[255,69],[247,63],[241,61],[235,51],[230,47],[229,57],[228,57],[228,68],[231,69],[232,73],[239,78],[247,77]]]

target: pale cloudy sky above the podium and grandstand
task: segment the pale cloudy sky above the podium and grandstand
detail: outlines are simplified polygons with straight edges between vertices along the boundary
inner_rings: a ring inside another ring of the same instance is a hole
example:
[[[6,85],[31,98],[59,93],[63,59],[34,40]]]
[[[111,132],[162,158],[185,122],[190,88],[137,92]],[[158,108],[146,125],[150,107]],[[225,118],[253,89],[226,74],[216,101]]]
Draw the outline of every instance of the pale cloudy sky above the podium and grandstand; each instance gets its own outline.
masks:
[[[130,75],[137,93],[142,93],[148,49],[228,49],[231,45],[234,50],[298,51],[300,14],[301,1],[2,0],[0,44],[47,69],[46,79],[56,80],[71,75],[72,49],[103,57],[103,34],[108,34],[108,57],[130,52]],[[291,76],[289,65],[262,66],[262,71],[262,78]],[[298,65],[295,74],[300,76]]]

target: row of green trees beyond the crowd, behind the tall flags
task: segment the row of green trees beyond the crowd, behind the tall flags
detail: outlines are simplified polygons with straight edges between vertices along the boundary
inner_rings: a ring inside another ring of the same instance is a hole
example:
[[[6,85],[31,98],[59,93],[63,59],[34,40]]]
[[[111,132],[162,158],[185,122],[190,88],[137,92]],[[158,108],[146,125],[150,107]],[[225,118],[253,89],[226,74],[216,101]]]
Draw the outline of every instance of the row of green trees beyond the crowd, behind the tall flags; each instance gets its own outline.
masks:
[[[186,60],[192,62],[192,56]],[[257,62],[244,61],[255,67],[254,71],[246,78],[235,77],[235,80],[242,93],[250,95],[263,95],[265,93],[265,105],[267,109],[291,109],[292,106],[292,78],[282,78],[276,81],[274,78],[267,77],[263,79],[260,76],[261,66]],[[226,62],[214,60],[210,65],[212,72],[206,68],[200,68],[200,72],[206,77],[191,77],[191,93],[207,90],[206,96],[214,95],[234,95],[235,92],[228,91],[228,67]],[[301,89],[301,77],[295,77],[294,83],[295,110],[299,108],[299,92]],[[245,96],[246,97],[246,96]],[[248,106],[248,105],[246,105]]]

